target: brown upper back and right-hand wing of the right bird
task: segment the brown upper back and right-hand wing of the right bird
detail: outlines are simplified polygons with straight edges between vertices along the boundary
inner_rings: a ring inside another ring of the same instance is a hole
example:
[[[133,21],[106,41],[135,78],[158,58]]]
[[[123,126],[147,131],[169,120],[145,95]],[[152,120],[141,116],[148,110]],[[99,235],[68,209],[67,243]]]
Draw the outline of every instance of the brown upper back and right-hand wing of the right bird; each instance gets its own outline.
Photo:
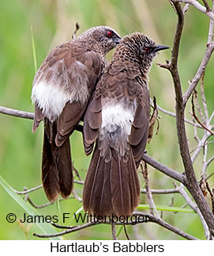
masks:
[[[116,97],[128,97],[137,101],[137,109],[129,136],[129,143],[133,151],[133,159],[138,167],[145,152],[148,138],[148,125],[150,117],[149,92],[147,77],[141,77],[141,72],[136,66],[124,61],[115,61],[109,66],[109,75],[103,85],[108,89],[108,94]],[[104,91],[103,87],[103,91]]]

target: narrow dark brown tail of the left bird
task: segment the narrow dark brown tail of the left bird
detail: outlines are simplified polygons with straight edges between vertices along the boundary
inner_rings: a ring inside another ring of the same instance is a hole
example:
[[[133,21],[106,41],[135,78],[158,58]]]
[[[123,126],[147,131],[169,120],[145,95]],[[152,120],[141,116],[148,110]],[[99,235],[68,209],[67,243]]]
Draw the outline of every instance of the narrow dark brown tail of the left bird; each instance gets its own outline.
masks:
[[[51,133],[51,136],[50,136]],[[73,190],[72,162],[69,138],[61,147],[54,141],[54,128],[45,126],[43,136],[42,179],[43,189],[49,201],[56,201],[58,194],[69,197]]]

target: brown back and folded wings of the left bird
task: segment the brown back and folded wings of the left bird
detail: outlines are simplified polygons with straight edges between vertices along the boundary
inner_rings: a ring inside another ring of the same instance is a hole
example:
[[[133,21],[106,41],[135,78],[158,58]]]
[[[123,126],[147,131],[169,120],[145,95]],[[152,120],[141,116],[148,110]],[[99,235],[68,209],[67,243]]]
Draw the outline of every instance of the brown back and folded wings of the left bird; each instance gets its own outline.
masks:
[[[83,45],[72,42],[55,48],[44,60],[34,79],[34,85],[40,81],[47,84],[58,84],[65,94],[73,96],[58,117],[57,146],[73,132],[75,125],[81,120],[88,98],[101,75],[104,60],[96,52],[88,51]],[[44,109],[36,104],[33,132],[45,117]]]

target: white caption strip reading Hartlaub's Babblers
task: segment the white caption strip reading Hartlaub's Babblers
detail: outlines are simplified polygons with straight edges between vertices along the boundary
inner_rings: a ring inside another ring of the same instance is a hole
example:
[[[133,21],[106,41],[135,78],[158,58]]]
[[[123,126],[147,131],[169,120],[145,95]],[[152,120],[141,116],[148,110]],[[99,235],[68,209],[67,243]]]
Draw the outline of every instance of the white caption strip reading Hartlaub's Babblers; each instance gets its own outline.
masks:
[[[205,255],[213,251],[213,241],[0,241],[1,255]]]

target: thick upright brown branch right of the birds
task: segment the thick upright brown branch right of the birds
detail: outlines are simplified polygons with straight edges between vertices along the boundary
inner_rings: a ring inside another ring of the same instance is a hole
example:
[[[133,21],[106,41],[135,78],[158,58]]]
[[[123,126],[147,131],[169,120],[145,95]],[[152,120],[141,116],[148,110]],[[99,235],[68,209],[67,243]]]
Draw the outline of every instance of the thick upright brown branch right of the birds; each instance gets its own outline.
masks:
[[[206,223],[208,224],[208,227],[214,235],[214,216],[208,207],[207,201],[205,201],[205,197],[203,193],[201,192],[201,189],[198,185],[196,175],[193,170],[193,163],[191,161],[190,157],[190,150],[189,150],[189,145],[188,145],[188,139],[186,136],[186,128],[185,128],[185,121],[184,121],[184,110],[186,107],[186,101],[190,97],[189,94],[192,94],[193,90],[195,87],[189,86],[188,97],[182,97],[182,86],[178,74],[178,52],[179,52],[179,45],[180,45],[180,40],[182,36],[182,28],[184,24],[184,15],[182,12],[182,7],[179,2],[181,1],[173,1],[174,6],[178,15],[178,22],[177,22],[177,27],[175,31],[175,38],[173,42],[173,47],[171,51],[171,62],[167,64],[167,69],[171,71],[171,75],[174,81],[174,86],[175,86],[175,96],[176,96],[176,125],[177,125],[177,132],[178,132],[178,143],[179,143],[179,149],[180,153],[182,156],[182,162],[185,168],[185,173],[186,173],[186,187],[189,189],[190,193],[193,196],[193,199],[196,201],[198,207],[201,210],[201,214],[205,218]],[[190,3],[190,2],[187,2]],[[210,50],[210,45],[209,44],[207,47],[207,51]],[[212,46],[212,51],[213,51],[213,46]],[[212,53],[211,51],[211,53]],[[208,58],[204,58],[202,60],[202,63],[207,61],[210,58],[211,54],[208,55]],[[206,63],[206,64],[207,64]],[[206,65],[201,67],[201,75],[203,71],[205,70]],[[199,75],[199,74],[198,74]],[[201,78],[201,75],[199,78]],[[198,80],[199,81],[199,80]],[[196,85],[195,85],[196,86]]]

